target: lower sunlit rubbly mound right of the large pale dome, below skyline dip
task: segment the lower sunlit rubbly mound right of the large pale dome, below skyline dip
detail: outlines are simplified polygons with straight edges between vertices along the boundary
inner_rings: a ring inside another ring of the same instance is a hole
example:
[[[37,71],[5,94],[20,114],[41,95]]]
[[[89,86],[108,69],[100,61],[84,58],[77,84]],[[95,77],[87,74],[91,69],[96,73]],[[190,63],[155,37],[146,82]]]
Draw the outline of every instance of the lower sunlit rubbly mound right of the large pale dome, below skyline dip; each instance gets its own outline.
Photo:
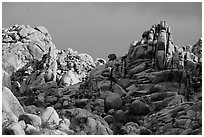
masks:
[[[63,78],[63,74],[69,73],[68,85],[73,85],[84,81],[91,69],[95,67],[95,63],[90,55],[80,54],[72,49],[59,51],[57,54],[59,79]]]

